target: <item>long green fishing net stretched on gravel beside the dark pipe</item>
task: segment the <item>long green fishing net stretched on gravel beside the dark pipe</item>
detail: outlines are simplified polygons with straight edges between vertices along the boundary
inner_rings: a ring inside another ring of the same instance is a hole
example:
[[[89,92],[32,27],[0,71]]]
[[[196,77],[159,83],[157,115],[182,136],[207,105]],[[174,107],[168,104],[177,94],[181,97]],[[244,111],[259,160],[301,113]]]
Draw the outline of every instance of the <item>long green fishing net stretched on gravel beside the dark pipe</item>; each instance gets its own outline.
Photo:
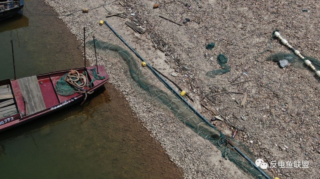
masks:
[[[93,48],[93,43],[93,40],[88,41],[88,47]],[[145,69],[147,68],[142,70],[140,63],[138,63],[138,59],[134,58],[129,51],[114,43],[107,43],[98,39],[95,40],[95,46],[100,53],[105,53],[108,56],[113,56],[116,53],[124,60],[122,65],[125,67],[122,69],[129,68],[129,73],[133,82],[138,85],[136,91],[141,91],[140,95],[144,95],[144,97],[151,100],[154,105],[162,107],[167,111],[171,111],[176,119],[183,122],[198,135],[214,144],[221,151],[223,157],[228,158],[245,173],[258,179],[267,178],[261,175],[259,170],[253,167],[250,162],[245,160],[228,145],[227,140],[231,140],[246,156],[255,161],[254,155],[244,144],[240,144],[235,139],[224,135],[211,123],[207,123],[200,119],[178,96],[172,93],[171,90],[168,90],[166,85],[164,85],[159,77],[154,75],[151,70],[146,71]]]

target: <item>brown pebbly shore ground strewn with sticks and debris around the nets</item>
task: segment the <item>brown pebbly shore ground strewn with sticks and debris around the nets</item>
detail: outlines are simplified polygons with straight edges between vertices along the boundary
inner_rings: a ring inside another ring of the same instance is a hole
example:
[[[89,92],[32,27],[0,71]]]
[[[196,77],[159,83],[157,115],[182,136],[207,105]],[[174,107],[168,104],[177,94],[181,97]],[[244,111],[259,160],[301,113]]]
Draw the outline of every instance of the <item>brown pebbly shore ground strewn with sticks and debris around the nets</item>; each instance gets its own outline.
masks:
[[[108,12],[124,11],[130,19],[137,18],[141,26],[146,28],[145,34],[135,33],[125,25],[125,19],[120,17],[109,17],[107,20],[150,64],[169,76],[181,88],[186,89],[195,99],[195,103],[191,104],[208,119],[214,118],[217,108],[233,126],[239,129],[236,139],[245,143],[257,158],[268,162],[276,161],[277,164],[280,161],[285,163],[289,161],[292,164],[294,161],[309,162],[308,168],[280,168],[276,165],[276,168],[267,169],[269,173],[288,179],[316,178],[319,174],[317,170],[320,165],[318,79],[308,69],[294,66],[281,69],[276,62],[266,60],[269,55],[276,52],[290,52],[278,40],[271,38],[275,29],[278,29],[281,35],[301,53],[319,59],[320,37],[317,32],[320,26],[319,2],[121,1],[124,6],[119,2],[113,2],[104,5],[105,9],[100,7],[89,10],[89,13],[74,11],[83,7],[95,8],[109,2],[60,0],[48,2],[79,40],[82,39],[84,26],[94,29],[93,35],[97,37],[105,40],[114,39],[108,37],[112,34],[106,27],[97,27],[97,22],[106,19],[105,15]],[[155,3],[160,4],[160,7],[153,9]],[[191,11],[187,11],[189,9]],[[303,9],[308,9],[309,12],[303,12]],[[74,13],[65,16],[71,12]],[[190,19],[190,22],[179,26],[160,18],[159,15],[178,23],[184,22],[185,18]],[[166,51],[156,50],[150,34],[156,37]],[[230,45],[246,36],[249,37]],[[205,45],[211,42],[216,43],[216,46],[212,50],[207,50]],[[262,51],[265,53],[260,54]],[[220,68],[216,62],[219,53],[227,55],[231,71],[215,78],[206,76],[207,72]],[[92,51],[88,56],[90,60],[93,59]],[[116,66],[115,60],[106,61],[107,57],[103,55],[99,55],[98,58],[110,72],[110,82],[124,92],[132,110],[160,141],[172,161],[182,168],[186,178],[246,177],[231,162],[221,158],[221,153],[213,146],[180,122],[173,121],[170,124],[165,123],[168,126],[160,126],[164,123],[150,120],[150,116],[156,117],[159,121],[168,120],[171,115],[153,107],[154,111],[151,112],[153,115],[146,116],[140,109],[148,104],[144,104],[143,99],[130,95],[129,91],[132,89],[124,85],[130,83],[126,79],[128,74],[123,68]],[[178,76],[171,76],[172,72]],[[240,83],[232,84],[237,82]],[[226,91],[246,92],[247,102],[244,106],[240,106],[244,95]],[[214,96],[205,98],[209,95]],[[201,103],[212,112],[203,108]],[[212,121],[212,123],[229,135],[235,130],[223,121]],[[188,140],[172,138],[172,135],[178,132],[184,136],[182,138]],[[188,148],[190,141],[197,144],[192,145],[190,149],[192,153],[182,152],[181,155],[181,150]],[[212,150],[208,150],[211,148]],[[210,160],[212,156],[214,159]],[[223,164],[217,165],[219,157]],[[186,158],[189,160],[184,160]]]

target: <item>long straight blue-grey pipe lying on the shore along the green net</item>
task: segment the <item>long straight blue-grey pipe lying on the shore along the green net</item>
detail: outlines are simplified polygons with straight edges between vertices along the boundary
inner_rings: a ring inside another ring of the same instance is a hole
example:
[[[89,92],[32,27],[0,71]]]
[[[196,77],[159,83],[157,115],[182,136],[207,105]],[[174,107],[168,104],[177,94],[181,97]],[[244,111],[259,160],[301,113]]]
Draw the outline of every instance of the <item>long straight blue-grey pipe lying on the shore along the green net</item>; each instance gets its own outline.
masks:
[[[121,35],[119,35],[119,34],[108,24],[108,22],[107,22],[106,20],[104,21],[104,23],[106,24],[106,26],[108,26],[108,27],[112,30],[112,32],[113,32],[138,58],[140,58],[140,60],[146,62],[146,61],[139,55],[139,53],[138,53],[137,51],[135,51],[135,50],[121,37]],[[182,97],[174,88],[172,88],[172,86],[171,86],[161,75],[159,75],[158,72],[156,72],[156,70],[154,70],[150,64],[148,64],[147,62],[146,62],[146,64],[147,64],[148,68],[149,68],[157,77],[160,78],[160,80],[166,85],[166,87],[167,87],[168,89],[172,90],[173,93],[174,93],[177,97],[179,97],[179,98],[185,103],[185,105],[187,105],[194,113],[196,113],[196,115],[197,115],[200,119],[202,119],[208,126],[215,128],[203,115],[201,115],[192,105],[190,105],[190,104],[188,103],[188,101],[187,101],[184,97]],[[250,160],[243,152],[241,152],[234,144],[232,144],[232,145],[233,145],[233,148],[236,150],[236,152],[239,153],[245,160],[247,160],[248,162],[250,162],[250,163],[252,164],[252,166],[253,166],[254,168],[256,168],[263,176],[265,176],[267,179],[271,179],[266,173],[264,173],[264,171],[262,171],[259,167],[257,167],[257,166],[255,165],[255,163],[252,162],[252,160]]]

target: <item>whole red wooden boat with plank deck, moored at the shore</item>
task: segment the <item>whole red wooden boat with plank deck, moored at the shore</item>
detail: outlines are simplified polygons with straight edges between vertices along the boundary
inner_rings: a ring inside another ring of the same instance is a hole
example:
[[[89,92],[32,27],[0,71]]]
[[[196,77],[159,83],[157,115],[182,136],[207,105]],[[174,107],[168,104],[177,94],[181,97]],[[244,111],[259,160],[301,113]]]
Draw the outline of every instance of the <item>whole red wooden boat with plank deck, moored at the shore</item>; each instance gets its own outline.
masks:
[[[59,95],[55,87],[58,80],[71,70],[0,81],[0,131],[84,101],[87,94],[94,92],[109,79],[103,66],[98,66],[97,71],[99,76],[105,78],[96,79],[94,73],[90,73],[96,68],[97,66],[90,66],[74,69],[79,73],[86,73],[87,82],[92,84],[89,86],[87,83],[83,88],[73,85],[76,92],[69,96]],[[92,81],[93,79],[95,80]]]

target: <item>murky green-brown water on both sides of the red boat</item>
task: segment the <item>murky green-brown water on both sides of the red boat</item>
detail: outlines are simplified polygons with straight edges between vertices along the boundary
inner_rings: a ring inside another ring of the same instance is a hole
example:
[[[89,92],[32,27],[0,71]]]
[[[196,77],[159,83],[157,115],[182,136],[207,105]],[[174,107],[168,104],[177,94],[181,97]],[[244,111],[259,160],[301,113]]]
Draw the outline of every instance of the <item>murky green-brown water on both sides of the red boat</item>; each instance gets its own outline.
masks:
[[[82,66],[79,42],[39,0],[0,21],[0,79]],[[110,84],[84,105],[0,133],[0,178],[181,178]]]

